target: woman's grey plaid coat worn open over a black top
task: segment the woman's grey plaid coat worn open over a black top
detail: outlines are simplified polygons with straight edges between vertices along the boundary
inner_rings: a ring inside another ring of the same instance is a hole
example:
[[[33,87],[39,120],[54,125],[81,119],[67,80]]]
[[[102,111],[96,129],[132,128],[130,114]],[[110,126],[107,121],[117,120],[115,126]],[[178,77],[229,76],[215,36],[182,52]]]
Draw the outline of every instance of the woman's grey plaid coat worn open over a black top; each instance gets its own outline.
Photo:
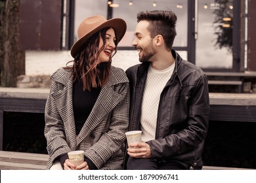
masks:
[[[98,169],[122,169],[125,132],[129,125],[129,80],[122,69],[111,67],[110,78],[79,135],[75,135],[72,71],[58,69],[52,76],[45,106],[45,138],[49,161],[72,150],[84,150]]]

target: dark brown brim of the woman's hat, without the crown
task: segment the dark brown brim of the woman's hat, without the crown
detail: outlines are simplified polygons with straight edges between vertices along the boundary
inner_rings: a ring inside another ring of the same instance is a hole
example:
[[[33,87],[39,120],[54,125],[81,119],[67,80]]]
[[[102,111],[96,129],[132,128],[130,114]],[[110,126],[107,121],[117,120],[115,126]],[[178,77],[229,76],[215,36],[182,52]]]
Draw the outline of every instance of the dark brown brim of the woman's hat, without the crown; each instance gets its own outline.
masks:
[[[81,48],[85,41],[89,39],[92,35],[94,35],[97,31],[100,31],[101,29],[104,29],[106,27],[112,27],[115,30],[116,37],[118,38],[118,42],[121,41],[123,36],[125,35],[127,25],[124,20],[121,18],[113,18],[110,20],[107,20],[100,26],[93,29],[91,32],[87,33],[87,35],[81,37],[77,42],[75,42],[70,50],[71,56],[75,58],[77,54],[81,51]]]

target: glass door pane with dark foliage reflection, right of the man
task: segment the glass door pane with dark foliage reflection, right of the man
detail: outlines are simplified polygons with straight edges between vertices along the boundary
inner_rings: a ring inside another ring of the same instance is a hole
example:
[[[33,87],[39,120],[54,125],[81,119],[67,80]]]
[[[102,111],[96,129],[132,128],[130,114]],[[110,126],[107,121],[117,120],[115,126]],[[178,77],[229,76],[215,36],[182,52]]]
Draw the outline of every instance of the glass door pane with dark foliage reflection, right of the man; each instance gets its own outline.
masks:
[[[203,70],[234,71],[237,68],[239,54],[234,46],[233,1],[195,1],[195,63]]]

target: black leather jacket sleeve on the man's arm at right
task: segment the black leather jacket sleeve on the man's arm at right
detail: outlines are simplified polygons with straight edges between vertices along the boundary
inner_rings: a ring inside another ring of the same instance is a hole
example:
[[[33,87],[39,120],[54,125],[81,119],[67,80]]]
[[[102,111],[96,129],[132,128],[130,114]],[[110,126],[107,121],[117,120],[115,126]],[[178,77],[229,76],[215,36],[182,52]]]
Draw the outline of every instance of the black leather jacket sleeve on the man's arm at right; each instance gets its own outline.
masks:
[[[167,135],[163,139],[148,141],[152,150],[152,158],[168,158],[192,153],[201,156],[202,147],[209,124],[209,92],[207,77],[200,76],[188,105],[186,126],[181,131]],[[200,151],[200,152],[198,152]]]

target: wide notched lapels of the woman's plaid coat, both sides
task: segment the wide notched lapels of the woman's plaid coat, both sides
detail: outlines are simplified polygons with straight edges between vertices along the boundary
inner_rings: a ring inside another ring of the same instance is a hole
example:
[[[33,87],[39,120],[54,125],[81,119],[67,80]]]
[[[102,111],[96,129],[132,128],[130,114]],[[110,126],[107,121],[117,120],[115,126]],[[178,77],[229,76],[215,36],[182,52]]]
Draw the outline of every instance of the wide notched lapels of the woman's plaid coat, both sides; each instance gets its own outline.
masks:
[[[116,78],[114,75],[114,68],[110,73],[108,82],[102,87],[98,98],[96,99],[93,110],[88,116],[85,124],[83,125],[78,137],[75,135],[75,120],[74,120],[74,108],[73,108],[73,78],[72,72],[60,69],[56,75],[52,77],[53,80],[60,83],[58,92],[52,93],[53,98],[56,101],[56,106],[60,112],[60,116],[64,121],[64,125],[67,130],[66,141],[70,144],[70,148],[75,150],[76,146],[91,133],[95,127],[102,122],[106,115],[109,115],[114,107],[121,101],[122,96],[114,91],[117,84],[122,82],[128,82],[127,78]]]

